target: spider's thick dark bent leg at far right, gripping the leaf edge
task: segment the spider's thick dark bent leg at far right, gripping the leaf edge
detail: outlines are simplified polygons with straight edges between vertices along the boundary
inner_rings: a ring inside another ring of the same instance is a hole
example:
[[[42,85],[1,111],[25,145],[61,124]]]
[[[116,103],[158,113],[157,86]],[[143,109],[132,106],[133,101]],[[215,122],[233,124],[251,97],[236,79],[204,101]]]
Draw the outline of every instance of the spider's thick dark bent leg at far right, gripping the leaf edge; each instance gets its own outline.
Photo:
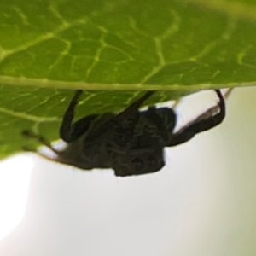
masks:
[[[189,123],[189,125],[186,125],[185,127],[183,127],[182,130],[173,134],[173,136],[171,137],[171,140],[166,144],[166,147],[172,147],[182,143],[186,143],[192,137],[194,137],[197,133],[201,131],[210,130],[213,127],[219,125],[223,121],[225,117],[224,96],[222,96],[220,90],[215,90],[215,92],[217,93],[218,99],[219,99],[219,102],[218,102],[219,113],[213,116],[211,115],[210,117],[206,118],[206,113],[208,115],[209,110],[213,108],[208,109],[205,113],[201,114],[193,122]],[[215,108],[216,106],[214,107],[214,109]],[[214,112],[216,112],[216,110],[214,110]]]

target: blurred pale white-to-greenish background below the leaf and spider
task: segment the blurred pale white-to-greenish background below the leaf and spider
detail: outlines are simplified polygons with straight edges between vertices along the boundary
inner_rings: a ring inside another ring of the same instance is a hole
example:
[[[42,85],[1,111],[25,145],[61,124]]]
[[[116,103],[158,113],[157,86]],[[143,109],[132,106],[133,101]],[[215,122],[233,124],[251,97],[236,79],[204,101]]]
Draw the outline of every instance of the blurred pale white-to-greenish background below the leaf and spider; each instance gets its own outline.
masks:
[[[216,101],[207,95],[193,114]],[[183,122],[198,99],[183,104]],[[247,88],[231,94],[222,125],[168,148],[158,173],[118,178],[33,154],[4,161],[0,255],[255,256],[255,149]]]

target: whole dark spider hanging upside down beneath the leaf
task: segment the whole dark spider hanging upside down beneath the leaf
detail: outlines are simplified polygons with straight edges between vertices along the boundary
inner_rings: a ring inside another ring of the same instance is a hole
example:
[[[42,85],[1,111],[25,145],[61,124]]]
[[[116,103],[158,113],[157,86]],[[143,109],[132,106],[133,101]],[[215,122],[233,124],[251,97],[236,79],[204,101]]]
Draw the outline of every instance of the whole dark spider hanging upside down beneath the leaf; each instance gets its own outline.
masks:
[[[113,168],[115,175],[121,177],[160,171],[165,166],[165,147],[188,142],[197,133],[219,125],[225,116],[224,96],[215,90],[218,106],[174,133],[177,115],[172,108],[138,110],[154,94],[148,91],[121,113],[90,114],[72,124],[82,92],[75,92],[61,123],[60,137],[67,143],[66,148],[57,150],[32,131],[23,134],[50,148],[56,154],[55,161],[85,170]]]

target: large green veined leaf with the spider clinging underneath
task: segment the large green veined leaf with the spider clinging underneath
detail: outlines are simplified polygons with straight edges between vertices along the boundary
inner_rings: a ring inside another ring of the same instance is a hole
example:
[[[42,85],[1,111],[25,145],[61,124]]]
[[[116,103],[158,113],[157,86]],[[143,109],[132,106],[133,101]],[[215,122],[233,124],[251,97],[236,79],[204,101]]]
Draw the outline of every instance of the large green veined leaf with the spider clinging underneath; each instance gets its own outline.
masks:
[[[252,0],[2,0],[0,157],[24,129],[57,138],[71,90],[81,117],[255,84],[255,24]]]

